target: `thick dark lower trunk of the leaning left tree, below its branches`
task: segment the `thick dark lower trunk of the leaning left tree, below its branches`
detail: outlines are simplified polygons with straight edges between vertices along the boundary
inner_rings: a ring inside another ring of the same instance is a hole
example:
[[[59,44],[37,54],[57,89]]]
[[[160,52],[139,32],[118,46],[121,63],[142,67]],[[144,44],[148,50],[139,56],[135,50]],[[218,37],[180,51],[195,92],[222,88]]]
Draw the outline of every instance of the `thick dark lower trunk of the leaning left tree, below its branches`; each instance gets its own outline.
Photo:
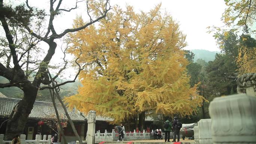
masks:
[[[27,84],[23,86],[24,97],[13,108],[6,126],[5,140],[12,140],[15,135],[23,134],[28,115],[36,100],[37,88]]]

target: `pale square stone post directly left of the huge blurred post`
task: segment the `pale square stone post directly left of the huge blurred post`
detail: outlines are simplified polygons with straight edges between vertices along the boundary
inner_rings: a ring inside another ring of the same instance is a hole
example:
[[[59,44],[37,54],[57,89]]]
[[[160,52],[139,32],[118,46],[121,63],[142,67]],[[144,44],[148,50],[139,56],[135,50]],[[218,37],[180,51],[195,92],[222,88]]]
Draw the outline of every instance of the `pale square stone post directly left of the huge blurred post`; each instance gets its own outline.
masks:
[[[201,119],[198,122],[198,136],[200,144],[212,144],[211,119]]]

